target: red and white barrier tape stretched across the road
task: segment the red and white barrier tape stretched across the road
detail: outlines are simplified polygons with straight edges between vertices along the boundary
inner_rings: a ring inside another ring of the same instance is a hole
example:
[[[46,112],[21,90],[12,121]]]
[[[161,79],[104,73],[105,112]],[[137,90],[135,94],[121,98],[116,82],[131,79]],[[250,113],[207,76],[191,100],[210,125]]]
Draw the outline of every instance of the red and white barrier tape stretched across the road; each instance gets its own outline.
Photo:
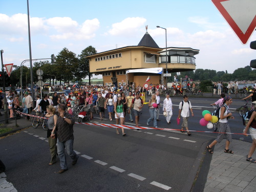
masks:
[[[43,119],[48,119],[46,117],[40,117],[36,115],[31,115],[27,113],[19,112],[20,114],[31,116],[31,117],[38,117]],[[168,130],[168,131],[181,131],[177,129],[168,129],[168,128],[156,128],[156,127],[147,127],[147,126],[133,126],[133,125],[119,125],[119,124],[105,124],[105,123],[80,123],[75,122],[76,124],[86,124],[86,125],[94,125],[94,126],[101,126],[101,127],[112,127],[112,128],[123,128],[123,129],[132,129],[132,130]],[[184,130],[186,131],[186,130]],[[202,132],[202,133],[222,133],[222,132],[207,132],[207,131],[193,131],[189,130],[189,132]],[[226,134],[234,134],[234,135],[244,135],[243,133],[226,133]],[[250,134],[247,134],[250,135]]]

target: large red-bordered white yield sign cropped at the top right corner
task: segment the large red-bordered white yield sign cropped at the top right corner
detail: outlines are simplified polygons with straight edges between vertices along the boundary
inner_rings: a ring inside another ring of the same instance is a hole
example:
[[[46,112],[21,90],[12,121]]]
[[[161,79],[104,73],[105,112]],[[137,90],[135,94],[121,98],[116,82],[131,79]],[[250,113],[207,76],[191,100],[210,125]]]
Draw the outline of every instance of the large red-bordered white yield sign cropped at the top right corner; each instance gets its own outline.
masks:
[[[242,44],[246,44],[256,28],[255,0],[211,0]]]

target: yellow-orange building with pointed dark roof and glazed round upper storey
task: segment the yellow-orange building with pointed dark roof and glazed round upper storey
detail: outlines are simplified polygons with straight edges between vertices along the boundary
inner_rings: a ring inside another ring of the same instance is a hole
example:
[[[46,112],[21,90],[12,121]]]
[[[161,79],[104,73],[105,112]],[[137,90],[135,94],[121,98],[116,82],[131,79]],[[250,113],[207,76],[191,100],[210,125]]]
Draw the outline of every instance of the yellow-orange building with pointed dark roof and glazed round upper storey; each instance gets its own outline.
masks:
[[[199,50],[191,48],[167,48],[167,72],[182,72],[196,69],[195,55]],[[166,73],[166,49],[159,48],[147,32],[138,46],[127,46],[87,56],[90,73],[102,74],[104,85],[119,86],[135,84],[143,86],[148,76],[149,83],[166,83],[161,74],[147,73],[147,68],[163,68]],[[143,73],[127,73],[131,69],[145,69]]]

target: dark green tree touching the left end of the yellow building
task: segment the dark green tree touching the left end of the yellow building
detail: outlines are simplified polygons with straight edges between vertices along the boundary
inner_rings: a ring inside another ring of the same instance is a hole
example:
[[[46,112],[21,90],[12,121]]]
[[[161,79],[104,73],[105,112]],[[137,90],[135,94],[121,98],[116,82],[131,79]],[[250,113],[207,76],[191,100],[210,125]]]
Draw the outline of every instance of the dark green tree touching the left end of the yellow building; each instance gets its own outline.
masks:
[[[80,55],[78,55],[79,67],[75,73],[76,80],[80,80],[82,78],[89,76],[89,74],[90,74],[89,60],[86,58],[86,56],[94,55],[96,53],[97,53],[97,51],[94,47],[88,46],[86,49],[81,51]],[[92,74],[91,74],[91,76],[92,76]]]

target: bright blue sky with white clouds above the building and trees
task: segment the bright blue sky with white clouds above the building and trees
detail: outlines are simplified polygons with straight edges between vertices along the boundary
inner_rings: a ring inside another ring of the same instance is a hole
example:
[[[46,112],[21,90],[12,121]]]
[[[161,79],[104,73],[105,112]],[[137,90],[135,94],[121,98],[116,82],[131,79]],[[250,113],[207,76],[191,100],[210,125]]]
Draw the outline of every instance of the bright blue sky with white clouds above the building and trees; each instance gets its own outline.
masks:
[[[27,13],[26,0],[0,0],[4,64],[29,59]],[[156,26],[167,29],[167,47],[199,49],[196,69],[233,73],[256,59],[250,49],[256,32],[243,45],[211,0],[29,0],[29,14],[32,59],[51,58],[63,48],[79,55],[88,46],[98,53],[137,46],[146,25],[160,48],[165,30]]]

